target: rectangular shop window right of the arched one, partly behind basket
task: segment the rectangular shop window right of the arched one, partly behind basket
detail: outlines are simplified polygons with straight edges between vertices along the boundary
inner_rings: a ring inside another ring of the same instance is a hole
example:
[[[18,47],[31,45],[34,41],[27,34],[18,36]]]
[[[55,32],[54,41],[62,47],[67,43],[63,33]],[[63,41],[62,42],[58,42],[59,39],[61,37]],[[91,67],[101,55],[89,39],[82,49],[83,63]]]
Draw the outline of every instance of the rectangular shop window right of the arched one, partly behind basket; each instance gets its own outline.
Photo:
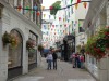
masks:
[[[37,43],[38,37],[33,31],[29,31],[29,40],[34,43],[34,49],[28,50],[28,70],[37,67]]]

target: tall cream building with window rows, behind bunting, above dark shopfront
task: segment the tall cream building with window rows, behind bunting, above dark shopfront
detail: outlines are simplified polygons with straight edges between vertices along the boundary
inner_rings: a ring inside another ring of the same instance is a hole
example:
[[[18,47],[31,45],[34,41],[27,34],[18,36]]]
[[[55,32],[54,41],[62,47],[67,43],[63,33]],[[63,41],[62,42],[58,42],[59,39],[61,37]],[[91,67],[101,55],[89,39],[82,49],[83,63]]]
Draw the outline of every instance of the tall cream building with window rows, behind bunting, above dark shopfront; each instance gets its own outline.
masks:
[[[70,0],[63,0],[62,2],[63,8],[66,8],[63,14],[63,18],[65,19],[64,24],[66,24],[65,32],[66,35],[75,36],[75,52],[77,52],[76,46],[83,45],[83,42],[85,43],[87,41],[86,35],[84,31],[80,31],[80,28],[83,28],[83,23],[87,14],[89,2],[86,2],[86,9],[84,8],[84,2],[78,3],[77,8],[72,5],[76,3],[76,0],[73,0],[72,3]],[[68,8],[69,5],[72,6]]]

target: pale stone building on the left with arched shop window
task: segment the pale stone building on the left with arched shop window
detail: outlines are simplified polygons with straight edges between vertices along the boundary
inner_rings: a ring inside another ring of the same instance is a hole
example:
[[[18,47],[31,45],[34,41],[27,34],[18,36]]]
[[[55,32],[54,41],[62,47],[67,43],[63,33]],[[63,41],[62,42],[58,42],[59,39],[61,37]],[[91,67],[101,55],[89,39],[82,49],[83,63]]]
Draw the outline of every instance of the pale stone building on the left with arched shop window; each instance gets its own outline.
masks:
[[[39,27],[40,16],[36,12],[22,10],[22,8],[33,9],[34,0],[0,0],[0,81],[7,81],[19,75],[27,73],[28,70],[39,65],[40,54],[37,51],[41,40]],[[41,0],[37,0],[40,9]],[[19,6],[20,9],[14,9]],[[38,24],[38,26],[36,25]],[[17,38],[19,44],[12,49],[3,46],[2,36],[10,32]],[[28,39],[35,41],[34,52],[26,50]]]

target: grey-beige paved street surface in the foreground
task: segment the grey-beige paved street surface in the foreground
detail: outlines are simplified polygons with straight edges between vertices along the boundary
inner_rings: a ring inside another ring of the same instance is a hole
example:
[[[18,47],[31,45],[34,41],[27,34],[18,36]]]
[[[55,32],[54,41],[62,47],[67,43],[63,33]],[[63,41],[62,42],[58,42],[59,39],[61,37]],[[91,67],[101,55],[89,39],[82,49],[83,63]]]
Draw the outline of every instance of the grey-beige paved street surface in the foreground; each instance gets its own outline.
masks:
[[[47,70],[46,59],[41,59],[41,66],[29,73],[19,77],[13,81],[95,81],[85,70],[72,68],[72,64],[58,60],[57,70]]]

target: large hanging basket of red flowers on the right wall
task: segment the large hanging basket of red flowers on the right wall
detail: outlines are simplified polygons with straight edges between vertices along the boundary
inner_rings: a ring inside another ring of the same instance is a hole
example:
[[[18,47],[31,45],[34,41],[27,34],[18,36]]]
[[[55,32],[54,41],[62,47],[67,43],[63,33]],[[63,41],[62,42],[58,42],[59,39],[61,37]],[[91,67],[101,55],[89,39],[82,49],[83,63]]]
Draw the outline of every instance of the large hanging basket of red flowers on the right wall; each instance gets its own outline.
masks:
[[[106,55],[106,49],[109,49],[109,27],[100,29],[96,36],[88,38],[85,46],[86,53],[97,59]]]

